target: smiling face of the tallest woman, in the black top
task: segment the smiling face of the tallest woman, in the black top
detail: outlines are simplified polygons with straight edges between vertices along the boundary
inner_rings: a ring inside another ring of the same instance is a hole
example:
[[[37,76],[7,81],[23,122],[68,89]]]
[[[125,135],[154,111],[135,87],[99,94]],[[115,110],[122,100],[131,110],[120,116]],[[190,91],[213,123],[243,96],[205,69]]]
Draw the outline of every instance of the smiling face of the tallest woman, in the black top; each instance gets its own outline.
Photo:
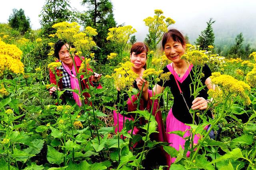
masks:
[[[179,63],[180,57],[185,54],[185,48],[182,43],[169,39],[164,45],[164,53],[170,61]]]

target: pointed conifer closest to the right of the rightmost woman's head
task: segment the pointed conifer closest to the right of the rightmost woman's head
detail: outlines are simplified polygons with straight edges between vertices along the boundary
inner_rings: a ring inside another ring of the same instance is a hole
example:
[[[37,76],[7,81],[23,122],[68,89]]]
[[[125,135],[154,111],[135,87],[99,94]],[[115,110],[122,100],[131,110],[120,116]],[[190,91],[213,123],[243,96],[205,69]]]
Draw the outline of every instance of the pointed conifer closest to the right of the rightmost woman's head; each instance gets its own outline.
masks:
[[[206,29],[201,32],[201,35],[199,35],[198,39],[196,39],[196,45],[200,45],[200,48],[202,50],[208,50],[208,45],[214,45],[214,32],[212,28],[212,24],[215,21],[212,21],[212,18],[207,23]]]

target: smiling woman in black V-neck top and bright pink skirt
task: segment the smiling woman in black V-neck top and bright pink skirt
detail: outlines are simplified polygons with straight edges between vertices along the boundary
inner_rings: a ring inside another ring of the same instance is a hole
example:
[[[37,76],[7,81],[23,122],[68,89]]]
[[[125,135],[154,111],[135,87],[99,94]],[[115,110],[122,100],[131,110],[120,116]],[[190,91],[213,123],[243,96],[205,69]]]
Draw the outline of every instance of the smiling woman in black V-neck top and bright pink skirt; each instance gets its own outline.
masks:
[[[194,100],[194,96],[190,96],[190,84],[192,83],[191,77],[194,78],[193,72],[191,71],[193,65],[181,59],[181,56],[185,54],[186,49],[186,42],[183,35],[176,29],[170,29],[163,36],[162,48],[164,49],[166,57],[172,61],[172,63],[168,64],[163,70],[164,72],[170,71],[172,74],[170,75],[170,80],[166,81],[165,83],[162,81],[158,82],[154,87],[154,92],[156,92],[156,94],[160,94],[166,86],[170,87],[170,90],[174,96],[174,103],[166,119],[166,133],[172,131],[186,131],[184,137],[187,137],[190,135],[188,131],[190,126],[185,125],[185,123],[192,124],[192,116],[188,112],[174,76],[176,76],[176,79],[178,80],[178,84],[183,92],[188,107],[194,110],[204,110],[208,107],[207,104],[209,102],[207,100],[207,90],[214,88],[210,79],[211,70],[206,64],[204,65],[202,70],[204,77],[201,78],[201,82],[203,85],[206,85],[206,87],[200,91],[200,94]],[[140,81],[138,81],[137,85],[139,89],[141,89],[143,82],[146,81],[142,78]],[[146,88],[147,87],[143,89],[143,92],[146,92]],[[191,89],[194,89],[193,86]],[[143,98],[144,100],[148,100],[146,93],[143,93]],[[210,112],[207,115],[212,117]],[[196,117],[195,121],[198,123],[198,117]],[[194,143],[198,143],[198,139],[199,137],[195,135]],[[168,143],[171,143],[170,146],[174,147],[176,150],[179,150],[180,145],[184,149],[185,140],[182,137],[175,134],[167,134],[167,140]],[[187,156],[189,156],[189,154],[190,152],[187,153]],[[170,166],[170,164],[174,162],[175,159],[176,158],[170,159],[169,156],[167,159],[168,165]]]

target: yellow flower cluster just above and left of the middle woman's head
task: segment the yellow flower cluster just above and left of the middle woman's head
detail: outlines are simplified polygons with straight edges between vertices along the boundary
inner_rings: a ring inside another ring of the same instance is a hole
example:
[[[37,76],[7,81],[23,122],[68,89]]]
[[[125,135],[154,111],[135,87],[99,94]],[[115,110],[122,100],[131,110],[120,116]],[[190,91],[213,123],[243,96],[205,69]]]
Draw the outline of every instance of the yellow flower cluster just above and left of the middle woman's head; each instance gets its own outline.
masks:
[[[136,29],[132,28],[131,25],[126,25],[123,27],[113,27],[108,29],[107,40],[113,41],[116,44],[124,45],[130,38],[130,35],[137,32]]]

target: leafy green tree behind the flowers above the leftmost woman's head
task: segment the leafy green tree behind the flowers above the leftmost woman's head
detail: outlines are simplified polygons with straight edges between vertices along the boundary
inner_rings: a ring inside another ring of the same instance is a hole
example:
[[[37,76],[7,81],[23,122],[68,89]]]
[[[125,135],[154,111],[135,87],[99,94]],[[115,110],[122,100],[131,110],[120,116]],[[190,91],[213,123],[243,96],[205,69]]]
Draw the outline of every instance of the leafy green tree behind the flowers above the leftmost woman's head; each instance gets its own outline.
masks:
[[[69,0],[46,0],[41,14],[42,34],[55,33],[52,25],[63,21],[76,21],[76,12],[71,9]]]

